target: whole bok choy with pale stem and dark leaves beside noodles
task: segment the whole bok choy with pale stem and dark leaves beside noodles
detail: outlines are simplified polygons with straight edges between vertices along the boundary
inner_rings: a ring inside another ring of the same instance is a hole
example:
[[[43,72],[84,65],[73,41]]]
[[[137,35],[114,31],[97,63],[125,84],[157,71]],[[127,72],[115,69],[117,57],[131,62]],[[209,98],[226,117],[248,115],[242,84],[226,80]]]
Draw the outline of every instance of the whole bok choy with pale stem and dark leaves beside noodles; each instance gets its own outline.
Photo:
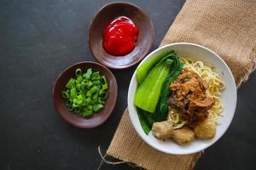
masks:
[[[155,59],[154,65],[148,62],[137,68],[137,74],[141,74],[141,67],[146,73],[140,77],[139,86],[134,104],[137,106],[137,114],[145,133],[149,133],[154,122],[165,121],[168,115],[167,100],[171,96],[170,84],[174,82],[183,70],[183,63],[175,51],[162,54],[160,59]],[[146,66],[144,66],[146,65]],[[143,78],[142,78],[143,77]]]

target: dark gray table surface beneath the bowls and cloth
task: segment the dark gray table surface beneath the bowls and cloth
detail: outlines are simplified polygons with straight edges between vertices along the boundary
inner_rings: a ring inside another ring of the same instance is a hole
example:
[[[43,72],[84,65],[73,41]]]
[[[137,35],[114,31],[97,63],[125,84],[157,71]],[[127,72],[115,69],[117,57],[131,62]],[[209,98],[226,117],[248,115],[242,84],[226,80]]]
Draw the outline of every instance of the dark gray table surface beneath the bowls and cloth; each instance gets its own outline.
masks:
[[[131,1],[151,17],[155,49],[184,0]],[[101,127],[78,129],[56,113],[51,92],[67,66],[95,60],[88,26],[108,1],[1,0],[0,2],[0,169],[96,169],[97,146],[108,149],[126,107],[136,66],[113,71],[119,96]],[[236,115],[224,136],[205,151],[195,169],[256,169],[256,74],[238,90]],[[103,165],[101,169],[132,169]]]

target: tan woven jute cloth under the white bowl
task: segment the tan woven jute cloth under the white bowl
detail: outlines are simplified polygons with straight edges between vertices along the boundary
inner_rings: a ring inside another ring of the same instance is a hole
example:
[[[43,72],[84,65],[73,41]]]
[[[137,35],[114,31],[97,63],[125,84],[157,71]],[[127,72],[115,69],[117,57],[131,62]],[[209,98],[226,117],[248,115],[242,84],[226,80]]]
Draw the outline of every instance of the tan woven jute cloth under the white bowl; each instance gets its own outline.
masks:
[[[160,46],[195,42],[215,51],[230,66],[236,85],[245,82],[255,67],[256,2],[249,0],[187,0]],[[168,155],[143,142],[125,110],[109,156],[149,170],[189,170],[202,152]]]

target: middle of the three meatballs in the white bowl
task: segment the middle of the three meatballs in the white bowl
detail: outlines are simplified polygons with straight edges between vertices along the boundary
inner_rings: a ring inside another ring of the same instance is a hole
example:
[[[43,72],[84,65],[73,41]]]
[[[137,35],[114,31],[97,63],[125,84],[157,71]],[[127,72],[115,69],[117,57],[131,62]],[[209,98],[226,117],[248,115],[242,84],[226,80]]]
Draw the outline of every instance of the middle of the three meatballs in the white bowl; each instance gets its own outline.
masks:
[[[174,130],[172,139],[174,139],[177,144],[188,144],[195,139],[195,133],[189,127],[181,127]]]

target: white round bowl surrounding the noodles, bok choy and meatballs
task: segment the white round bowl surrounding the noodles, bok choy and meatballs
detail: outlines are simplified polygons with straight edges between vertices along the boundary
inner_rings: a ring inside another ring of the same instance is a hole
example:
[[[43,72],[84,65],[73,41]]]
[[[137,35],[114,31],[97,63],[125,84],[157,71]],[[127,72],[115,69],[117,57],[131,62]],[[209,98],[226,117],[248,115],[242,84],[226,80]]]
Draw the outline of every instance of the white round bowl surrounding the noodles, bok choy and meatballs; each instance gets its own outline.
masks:
[[[224,116],[219,117],[217,132],[214,139],[195,139],[191,144],[179,145],[175,143],[172,139],[166,140],[165,142],[160,139],[156,139],[154,138],[152,132],[150,132],[148,135],[144,133],[137,116],[136,107],[134,105],[134,97],[137,90],[136,72],[134,72],[133,76],[131,77],[130,87],[128,91],[128,110],[133,127],[136,129],[139,136],[147,144],[149,144],[156,150],[160,150],[168,154],[185,155],[206,149],[210,145],[214,144],[228,129],[236,110],[236,83],[229,66],[225,64],[224,60],[221,59],[218,54],[215,54],[214,52],[212,52],[212,50],[208,48],[194,43],[177,42],[168,44],[161,48],[157,48],[152,53],[148,54],[148,56],[143,59],[140,65],[143,65],[143,63],[151,57],[157,54],[161,54],[165,51],[169,51],[171,49],[174,49],[177,52],[178,56],[189,57],[190,59],[193,59],[195,61],[201,60],[205,65],[211,67],[213,66],[214,71],[219,74],[219,76],[226,84],[226,88],[221,95],[221,99],[223,100],[224,105],[224,111],[222,112],[222,115]]]

